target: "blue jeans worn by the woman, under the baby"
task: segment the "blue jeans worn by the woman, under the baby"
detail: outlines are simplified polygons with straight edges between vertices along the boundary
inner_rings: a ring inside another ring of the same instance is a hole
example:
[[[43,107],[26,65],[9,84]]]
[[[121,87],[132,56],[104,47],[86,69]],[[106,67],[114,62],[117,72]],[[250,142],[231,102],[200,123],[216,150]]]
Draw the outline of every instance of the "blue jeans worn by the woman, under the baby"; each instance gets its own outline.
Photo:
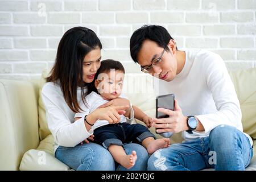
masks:
[[[146,148],[137,143],[124,144],[126,154],[136,151],[138,159],[129,170],[144,171],[147,169],[148,153]],[[77,171],[125,171],[126,168],[114,162],[110,152],[96,143],[78,144],[75,147],[59,146],[55,157]]]

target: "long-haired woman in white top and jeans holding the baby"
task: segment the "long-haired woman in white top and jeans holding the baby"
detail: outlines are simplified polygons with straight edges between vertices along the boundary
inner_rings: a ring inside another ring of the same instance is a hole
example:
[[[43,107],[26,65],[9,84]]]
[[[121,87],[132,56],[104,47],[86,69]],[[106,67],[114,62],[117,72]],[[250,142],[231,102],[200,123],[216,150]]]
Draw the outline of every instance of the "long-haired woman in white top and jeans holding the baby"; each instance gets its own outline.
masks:
[[[117,98],[88,114],[86,119],[73,119],[81,111],[79,102],[85,102],[88,86],[100,68],[101,49],[97,35],[88,28],[74,27],[65,32],[55,65],[42,89],[48,127],[55,139],[55,157],[75,170],[125,170],[115,167],[108,150],[87,139],[93,140],[91,127],[97,119],[106,119],[110,124],[119,122],[119,114],[131,115],[132,119],[134,113],[128,100]],[[124,148],[127,154],[135,150],[138,155],[131,170],[146,170],[146,149],[135,143],[125,144]]]

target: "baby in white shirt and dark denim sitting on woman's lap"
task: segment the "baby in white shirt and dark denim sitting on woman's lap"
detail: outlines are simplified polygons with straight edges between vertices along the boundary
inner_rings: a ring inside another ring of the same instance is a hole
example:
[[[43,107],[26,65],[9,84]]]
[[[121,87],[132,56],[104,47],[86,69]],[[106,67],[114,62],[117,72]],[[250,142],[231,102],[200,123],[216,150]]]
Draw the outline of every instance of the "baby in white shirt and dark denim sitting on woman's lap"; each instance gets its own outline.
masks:
[[[127,98],[122,92],[125,69],[119,61],[104,60],[101,61],[101,67],[94,77],[94,86],[88,90],[85,97],[86,103],[81,101],[81,113],[76,113],[75,121],[86,117],[89,113],[96,110],[99,106],[113,100],[114,98]],[[133,106],[134,118],[143,121],[147,127],[151,127],[152,119],[143,113],[138,107]],[[148,154],[152,154],[160,148],[170,146],[170,139],[155,139],[147,127],[140,124],[130,125],[126,122],[127,118],[120,115],[120,121],[117,124],[109,124],[106,120],[97,120],[92,129],[94,130],[93,142],[102,144],[112,154],[115,162],[129,169],[134,166],[137,155],[133,151],[127,155],[123,149],[124,143],[141,143],[147,149]]]

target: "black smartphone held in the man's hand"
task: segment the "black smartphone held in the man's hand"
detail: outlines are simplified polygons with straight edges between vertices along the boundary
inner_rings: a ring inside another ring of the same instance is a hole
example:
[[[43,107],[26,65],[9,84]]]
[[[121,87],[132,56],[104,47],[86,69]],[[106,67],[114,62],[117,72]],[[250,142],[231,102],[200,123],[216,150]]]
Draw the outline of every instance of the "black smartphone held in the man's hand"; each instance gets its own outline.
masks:
[[[156,118],[168,118],[169,115],[158,111],[159,107],[174,110],[174,94],[167,94],[156,97]],[[159,128],[158,128],[159,129]]]

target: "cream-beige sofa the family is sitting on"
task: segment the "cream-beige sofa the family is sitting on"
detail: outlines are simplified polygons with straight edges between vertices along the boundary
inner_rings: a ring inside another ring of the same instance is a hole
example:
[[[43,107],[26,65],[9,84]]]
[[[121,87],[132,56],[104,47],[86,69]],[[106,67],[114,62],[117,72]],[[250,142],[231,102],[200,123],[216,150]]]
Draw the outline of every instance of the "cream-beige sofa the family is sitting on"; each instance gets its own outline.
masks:
[[[43,73],[44,77],[46,72]],[[244,131],[256,138],[256,69],[230,72],[242,109]],[[127,75],[131,80],[146,79],[151,87],[152,79],[146,74]],[[131,81],[135,90],[142,89],[138,81]],[[131,88],[129,84],[129,89]],[[40,90],[44,79],[34,81],[0,80],[0,170],[69,170],[53,156],[53,138],[48,130]],[[130,101],[148,115],[155,115],[155,95],[137,92],[127,94]],[[139,122],[139,121],[135,121]],[[154,129],[151,129],[155,132]],[[157,135],[159,137],[159,135]],[[180,134],[171,137],[172,143],[181,142]],[[254,145],[256,144],[254,140]],[[256,170],[254,158],[246,170]]]

